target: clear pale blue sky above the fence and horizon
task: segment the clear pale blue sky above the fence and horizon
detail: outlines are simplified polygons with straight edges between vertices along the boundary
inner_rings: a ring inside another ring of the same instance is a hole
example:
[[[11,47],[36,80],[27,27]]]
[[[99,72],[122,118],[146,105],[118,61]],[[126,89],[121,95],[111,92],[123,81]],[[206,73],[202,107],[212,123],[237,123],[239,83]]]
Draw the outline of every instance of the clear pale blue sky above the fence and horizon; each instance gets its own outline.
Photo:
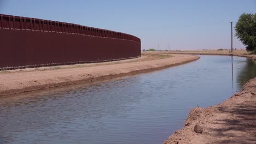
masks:
[[[141,38],[142,49],[159,44],[164,50],[168,43],[171,50],[229,49],[229,22],[235,25],[242,13],[256,13],[256,0],[0,0],[0,13],[129,33]],[[237,48],[244,47],[237,40]]]

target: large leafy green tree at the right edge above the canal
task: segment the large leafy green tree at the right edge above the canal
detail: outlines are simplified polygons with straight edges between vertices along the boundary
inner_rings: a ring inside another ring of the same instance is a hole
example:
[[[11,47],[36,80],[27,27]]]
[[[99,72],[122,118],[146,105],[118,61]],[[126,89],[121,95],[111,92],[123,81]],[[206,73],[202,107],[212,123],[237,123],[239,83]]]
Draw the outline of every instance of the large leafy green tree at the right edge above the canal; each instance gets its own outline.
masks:
[[[243,13],[235,26],[236,35],[246,50],[256,54],[256,14]]]

